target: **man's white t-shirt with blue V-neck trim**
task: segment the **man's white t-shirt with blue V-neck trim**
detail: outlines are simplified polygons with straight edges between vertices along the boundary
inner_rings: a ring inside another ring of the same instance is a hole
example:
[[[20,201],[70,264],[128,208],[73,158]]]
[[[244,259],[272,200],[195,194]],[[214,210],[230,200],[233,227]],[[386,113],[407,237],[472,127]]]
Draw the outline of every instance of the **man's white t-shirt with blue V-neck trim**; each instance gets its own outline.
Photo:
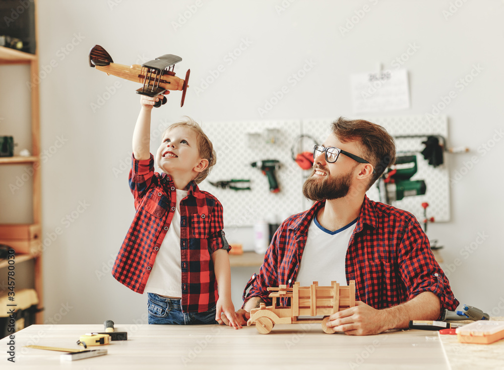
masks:
[[[356,224],[357,219],[330,231],[313,217],[296,278],[301,286],[310,286],[313,281],[318,281],[319,286],[331,286],[333,280],[340,286],[347,285],[345,258]]]

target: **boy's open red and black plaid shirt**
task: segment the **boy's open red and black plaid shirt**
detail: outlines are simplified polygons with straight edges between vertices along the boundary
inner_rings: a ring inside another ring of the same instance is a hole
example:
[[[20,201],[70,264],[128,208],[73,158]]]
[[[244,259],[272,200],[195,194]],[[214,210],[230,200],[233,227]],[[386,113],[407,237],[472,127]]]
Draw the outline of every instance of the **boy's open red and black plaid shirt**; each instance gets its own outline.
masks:
[[[154,172],[154,157],[132,158],[130,189],[135,218],[112,269],[117,281],[143,293],[161,242],[168,230],[177,199],[171,176]],[[211,259],[218,249],[229,250],[224,237],[222,205],[213,195],[190,182],[180,202],[182,311],[205,312],[215,305],[217,281]]]

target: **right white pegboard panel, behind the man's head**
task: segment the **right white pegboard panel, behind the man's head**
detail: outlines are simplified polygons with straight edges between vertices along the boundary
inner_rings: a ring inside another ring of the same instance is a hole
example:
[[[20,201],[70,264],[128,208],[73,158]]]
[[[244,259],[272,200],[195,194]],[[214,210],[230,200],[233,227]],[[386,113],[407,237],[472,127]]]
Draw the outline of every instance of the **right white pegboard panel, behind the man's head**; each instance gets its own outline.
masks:
[[[448,122],[446,116],[437,116],[431,120],[424,115],[389,116],[389,117],[362,117],[384,127],[392,136],[404,135],[440,135],[448,140]],[[330,125],[334,119],[306,119],[303,120],[303,131],[314,136],[322,143],[331,133]],[[423,138],[398,138],[396,150],[398,154],[416,152],[417,173],[412,180],[424,180],[426,184],[425,195],[405,197],[393,202],[393,206],[411,212],[418,220],[423,220],[421,204],[427,202],[427,217],[434,217],[435,222],[450,221],[450,178],[448,172],[448,155],[444,155],[444,164],[433,167],[421,155],[425,146]],[[402,153],[405,152],[405,153]],[[367,196],[375,201],[380,201],[380,194],[376,183],[369,189]]]

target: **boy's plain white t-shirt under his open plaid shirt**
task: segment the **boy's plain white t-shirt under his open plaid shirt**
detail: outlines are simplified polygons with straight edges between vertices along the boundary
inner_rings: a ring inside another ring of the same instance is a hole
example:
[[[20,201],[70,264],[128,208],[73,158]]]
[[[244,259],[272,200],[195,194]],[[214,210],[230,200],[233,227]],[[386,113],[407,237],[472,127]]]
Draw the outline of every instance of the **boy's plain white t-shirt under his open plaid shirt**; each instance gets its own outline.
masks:
[[[180,201],[187,191],[176,190],[177,201],[170,227],[159,247],[145,292],[182,297],[182,259],[180,257]]]

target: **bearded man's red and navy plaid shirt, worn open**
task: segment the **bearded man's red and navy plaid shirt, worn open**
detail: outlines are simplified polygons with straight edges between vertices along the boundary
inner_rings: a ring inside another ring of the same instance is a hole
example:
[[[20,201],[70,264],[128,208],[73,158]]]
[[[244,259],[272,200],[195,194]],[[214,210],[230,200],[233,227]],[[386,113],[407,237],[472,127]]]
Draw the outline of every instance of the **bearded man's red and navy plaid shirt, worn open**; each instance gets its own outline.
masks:
[[[324,202],[285,220],[273,236],[259,270],[243,292],[244,300],[259,296],[271,304],[267,287],[292,287],[299,270],[308,227]],[[324,258],[324,256],[321,256]],[[455,310],[450,283],[430,250],[416,218],[403,210],[364,197],[346,254],[347,283],[355,280],[355,298],[385,309],[430,291],[441,300],[441,312]],[[245,292],[251,286],[247,297]],[[284,305],[290,302],[282,301]]]

